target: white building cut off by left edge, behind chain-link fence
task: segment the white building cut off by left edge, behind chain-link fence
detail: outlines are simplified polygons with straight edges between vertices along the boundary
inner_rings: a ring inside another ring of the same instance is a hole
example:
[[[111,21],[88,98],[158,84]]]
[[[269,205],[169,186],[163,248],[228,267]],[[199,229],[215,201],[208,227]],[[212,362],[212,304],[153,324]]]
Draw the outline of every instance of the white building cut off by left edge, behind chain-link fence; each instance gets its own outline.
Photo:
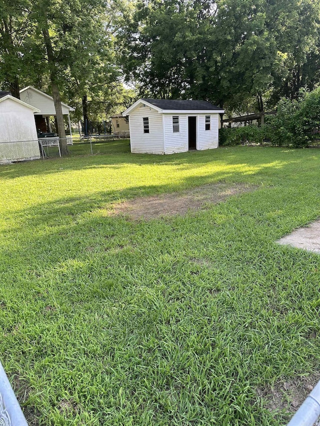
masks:
[[[0,163],[40,158],[33,118],[38,112],[11,95],[0,97]]]

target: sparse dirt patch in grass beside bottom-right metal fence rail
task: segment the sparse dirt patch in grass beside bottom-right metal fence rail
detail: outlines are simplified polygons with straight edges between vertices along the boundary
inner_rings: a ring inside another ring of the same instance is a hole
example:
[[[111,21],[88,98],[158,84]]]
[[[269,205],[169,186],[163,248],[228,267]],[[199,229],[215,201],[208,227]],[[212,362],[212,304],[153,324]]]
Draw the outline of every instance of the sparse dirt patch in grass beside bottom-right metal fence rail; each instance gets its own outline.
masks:
[[[257,393],[271,411],[295,413],[320,379],[320,374],[280,381],[272,387],[259,388]]]

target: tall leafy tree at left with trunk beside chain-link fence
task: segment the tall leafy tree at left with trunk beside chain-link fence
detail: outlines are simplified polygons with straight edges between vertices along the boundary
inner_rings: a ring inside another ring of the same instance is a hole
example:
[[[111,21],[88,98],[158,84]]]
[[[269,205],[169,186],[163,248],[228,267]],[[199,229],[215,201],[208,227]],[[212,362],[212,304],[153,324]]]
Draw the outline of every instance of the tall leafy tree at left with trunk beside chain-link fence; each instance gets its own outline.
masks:
[[[60,97],[78,102],[89,95],[101,105],[121,85],[112,45],[119,10],[104,0],[13,0],[0,11],[0,83],[15,84],[17,96],[19,79],[51,91],[62,153],[67,147]]]

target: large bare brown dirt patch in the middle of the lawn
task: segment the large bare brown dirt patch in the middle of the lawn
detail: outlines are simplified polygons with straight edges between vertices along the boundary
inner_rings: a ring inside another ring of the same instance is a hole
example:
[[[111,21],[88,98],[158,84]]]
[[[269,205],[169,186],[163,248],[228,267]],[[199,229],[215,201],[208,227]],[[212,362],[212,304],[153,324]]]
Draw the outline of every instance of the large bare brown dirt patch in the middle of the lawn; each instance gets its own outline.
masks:
[[[255,188],[252,185],[245,184],[207,184],[183,192],[135,198],[114,204],[111,215],[124,214],[132,219],[183,215],[189,210],[203,209],[209,204],[224,201],[231,195],[250,192]]]

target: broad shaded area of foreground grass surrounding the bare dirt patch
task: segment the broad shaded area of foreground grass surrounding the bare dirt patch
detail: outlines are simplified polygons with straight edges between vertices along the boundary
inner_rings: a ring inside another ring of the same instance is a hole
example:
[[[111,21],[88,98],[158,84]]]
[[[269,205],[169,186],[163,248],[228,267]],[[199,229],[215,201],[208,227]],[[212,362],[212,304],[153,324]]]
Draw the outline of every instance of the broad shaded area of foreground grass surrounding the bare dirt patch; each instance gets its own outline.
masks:
[[[299,211],[314,214],[312,190],[293,188],[283,207],[283,191],[262,188],[150,222],[100,211],[192,184],[63,197],[11,218],[20,225],[5,231],[16,246],[0,257],[0,348],[9,376],[23,372],[28,420],[34,410],[39,424],[93,424],[85,416],[94,411],[100,424],[110,413],[110,424],[139,425],[145,413],[173,424],[187,406],[206,424],[278,424],[255,389],[318,361],[308,343],[318,274],[311,254],[273,238]]]

